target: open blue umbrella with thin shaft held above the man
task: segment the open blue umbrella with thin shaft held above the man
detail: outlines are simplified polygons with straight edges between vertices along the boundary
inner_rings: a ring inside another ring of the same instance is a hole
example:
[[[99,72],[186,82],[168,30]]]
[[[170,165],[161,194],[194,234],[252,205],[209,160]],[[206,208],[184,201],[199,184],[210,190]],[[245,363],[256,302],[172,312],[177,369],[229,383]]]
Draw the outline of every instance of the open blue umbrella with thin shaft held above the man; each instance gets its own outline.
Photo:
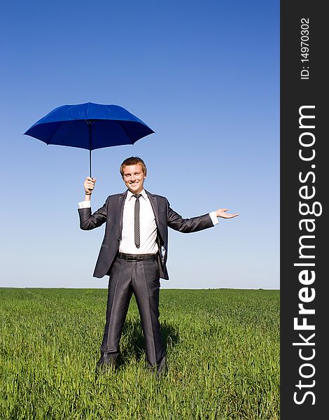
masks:
[[[87,102],[58,106],[24,134],[46,144],[89,150],[91,177],[94,149],[134,144],[152,133],[148,125],[122,106]]]

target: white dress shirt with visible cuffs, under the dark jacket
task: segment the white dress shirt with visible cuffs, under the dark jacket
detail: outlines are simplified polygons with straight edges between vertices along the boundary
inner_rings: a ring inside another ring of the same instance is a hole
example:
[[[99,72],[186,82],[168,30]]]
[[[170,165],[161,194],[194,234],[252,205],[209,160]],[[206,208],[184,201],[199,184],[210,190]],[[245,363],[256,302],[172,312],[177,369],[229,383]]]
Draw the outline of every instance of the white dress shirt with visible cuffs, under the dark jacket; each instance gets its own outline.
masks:
[[[134,244],[134,206],[136,198],[134,194],[127,191],[127,197],[123,206],[123,232],[119,245],[119,251],[123,253],[138,254],[138,253],[157,253],[157,225],[155,223],[155,216],[151,206],[151,202],[145,190],[141,191],[139,197],[140,211],[139,223],[141,233],[141,246],[139,248]],[[86,209],[91,207],[90,201],[79,202],[79,209]],[[218,225],[216,211],[209,213],[211,221],[214,225]]]

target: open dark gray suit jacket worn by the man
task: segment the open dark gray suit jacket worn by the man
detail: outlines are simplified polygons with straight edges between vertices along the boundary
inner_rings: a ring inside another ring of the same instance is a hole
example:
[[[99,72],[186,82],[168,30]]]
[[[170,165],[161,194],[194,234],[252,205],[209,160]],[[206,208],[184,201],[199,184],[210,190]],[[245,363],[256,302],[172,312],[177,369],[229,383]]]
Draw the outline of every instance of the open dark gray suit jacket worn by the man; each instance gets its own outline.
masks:
[[[214,224],[209,214],[193,218],[182,218],[170,208],[167,198],[153,195],[148,193],[148,191],[146,191],[146,194],[151,202],[155,223],[158,228],[157,242],[159,246],[158,265],[160,277],[168,280],[169,276],[166,267],[168,226],[179,232],[189,233],[211,228]],[[123,230],[123,205],[125,204],[126,196],[127,191],[122,194],[110,195],[107,197],[104,206],[93,214],[90,208],[78,209],[81,229],[91,230],[106,223],[104,239],[94,268],[94,277],[101,278],[105,274],[111,273],[111,267],[118,253]]]

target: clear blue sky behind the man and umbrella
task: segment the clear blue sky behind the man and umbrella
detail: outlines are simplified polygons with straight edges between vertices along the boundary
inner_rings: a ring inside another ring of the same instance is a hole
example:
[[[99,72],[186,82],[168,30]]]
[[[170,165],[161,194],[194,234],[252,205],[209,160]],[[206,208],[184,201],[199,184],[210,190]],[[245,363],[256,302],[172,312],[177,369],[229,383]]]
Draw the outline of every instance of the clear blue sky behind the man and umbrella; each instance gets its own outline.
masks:
[[[106,288],[104,227],[83,232],[88,152],[23,133],[57,106],[118,104],[154,131],[92,153],[92,208],[146,189],[184,217],[228,207],[204,232],[169,232],[162,288],[279,288],[279,1],[12,1],[1,17],[0,286]]]

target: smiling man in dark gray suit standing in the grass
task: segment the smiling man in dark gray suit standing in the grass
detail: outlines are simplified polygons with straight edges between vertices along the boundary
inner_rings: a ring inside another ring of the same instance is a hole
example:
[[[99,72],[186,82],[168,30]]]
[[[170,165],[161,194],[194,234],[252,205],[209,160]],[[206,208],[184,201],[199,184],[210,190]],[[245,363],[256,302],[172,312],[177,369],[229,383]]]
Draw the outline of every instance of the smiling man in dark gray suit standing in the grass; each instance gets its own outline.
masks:
[[[123,161],[120,174],[127,186],[122,194],[107,197],[104,206],[91,212],[90,196],[96,179],[83,184],[85,201],[79,203],[80,228],[90,230],[106,223],[104,240],[94,269],[95,277],[108,274],[109,293],[106,325],[97,363],[102,370],[114,366],[119,353],[123,324],[134,293],[146,344],[148,366],[165,369],[165,351],[159,323],[160,277],[168,279],[166,268],[168,227],[179,232],[211,228],[217,218],[233,218],[228,209],[218,209],[194,218],[182,218],[165,197],[144,190],[146,165],[141,158]]]

